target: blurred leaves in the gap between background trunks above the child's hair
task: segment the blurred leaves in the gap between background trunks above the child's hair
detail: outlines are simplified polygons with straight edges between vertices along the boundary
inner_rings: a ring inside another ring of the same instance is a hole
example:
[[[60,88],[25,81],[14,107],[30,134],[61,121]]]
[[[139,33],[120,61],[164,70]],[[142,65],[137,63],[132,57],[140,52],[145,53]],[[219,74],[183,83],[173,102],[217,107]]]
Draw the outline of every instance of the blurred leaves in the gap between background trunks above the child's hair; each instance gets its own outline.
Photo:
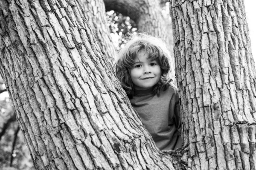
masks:
[[[137,25],[130,17],[124,16],[119,12],[108,11],[106,14],[111,37],[115,42],[116,49],[119,50],[127,42],[125,40],[127,33],[136,34]]]

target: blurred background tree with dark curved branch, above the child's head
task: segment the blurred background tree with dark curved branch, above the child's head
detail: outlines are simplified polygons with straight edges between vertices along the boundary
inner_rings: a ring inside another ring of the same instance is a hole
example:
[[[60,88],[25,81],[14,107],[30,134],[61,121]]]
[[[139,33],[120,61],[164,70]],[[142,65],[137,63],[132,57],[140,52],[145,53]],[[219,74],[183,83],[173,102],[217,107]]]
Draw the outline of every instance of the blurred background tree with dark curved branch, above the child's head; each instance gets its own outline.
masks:
[[[137,25],[137,30],[159,36],[171,44],[172,36],[166,23],[169,21],[162,14],[160,1],[155,0],[104,0],[106,11],[117,11],[129,16]]]

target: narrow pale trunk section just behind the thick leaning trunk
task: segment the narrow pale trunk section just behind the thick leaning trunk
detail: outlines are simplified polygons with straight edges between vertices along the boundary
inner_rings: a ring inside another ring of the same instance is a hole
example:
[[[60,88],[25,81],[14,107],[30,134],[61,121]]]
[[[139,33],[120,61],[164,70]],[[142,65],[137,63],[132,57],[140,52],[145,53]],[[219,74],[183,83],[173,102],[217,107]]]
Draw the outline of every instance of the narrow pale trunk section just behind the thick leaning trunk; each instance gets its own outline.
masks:
[[[89,21],[93,32],[99,40],[103,52],[108,57],[108,61],[113,64],[117,55],[107,25],[105,4],[103,0],[79,0],[79,3],[84,10],[84,15]]]

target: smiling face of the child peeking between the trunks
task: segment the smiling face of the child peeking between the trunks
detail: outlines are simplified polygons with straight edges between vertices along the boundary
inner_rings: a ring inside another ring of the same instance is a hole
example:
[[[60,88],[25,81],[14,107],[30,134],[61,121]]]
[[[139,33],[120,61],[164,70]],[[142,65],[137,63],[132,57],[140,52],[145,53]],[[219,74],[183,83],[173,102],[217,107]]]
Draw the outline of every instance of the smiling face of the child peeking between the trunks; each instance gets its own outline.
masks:
[[[148,59],[147,52],[141,51],[130,70],[130,76],[136,90],[147,90],[159,81],[161,68],[156,60]]]

